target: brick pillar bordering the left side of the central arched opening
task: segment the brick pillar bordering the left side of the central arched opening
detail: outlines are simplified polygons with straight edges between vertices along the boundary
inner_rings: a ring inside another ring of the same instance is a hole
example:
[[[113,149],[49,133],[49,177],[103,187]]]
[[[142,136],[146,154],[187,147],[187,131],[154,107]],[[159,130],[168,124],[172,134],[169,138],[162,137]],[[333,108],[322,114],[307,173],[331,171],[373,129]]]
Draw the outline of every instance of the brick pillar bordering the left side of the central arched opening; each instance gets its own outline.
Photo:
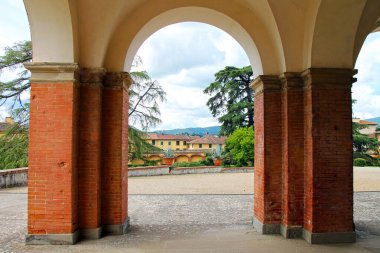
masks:
[[[128,73],[107,73],[102,120],[102,225],[109,234],[123,234],[128,218]]]

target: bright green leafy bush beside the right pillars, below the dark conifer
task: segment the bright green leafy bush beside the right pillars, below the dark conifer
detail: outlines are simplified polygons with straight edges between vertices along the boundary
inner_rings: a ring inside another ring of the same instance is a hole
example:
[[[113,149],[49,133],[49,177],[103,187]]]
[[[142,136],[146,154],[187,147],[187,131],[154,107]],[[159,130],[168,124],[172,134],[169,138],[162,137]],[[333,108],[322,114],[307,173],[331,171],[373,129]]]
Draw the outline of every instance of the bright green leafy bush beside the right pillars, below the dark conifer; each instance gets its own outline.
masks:
[[[235,130],[226,140],[223,165],[252,166],[254,161],[253,126]]]

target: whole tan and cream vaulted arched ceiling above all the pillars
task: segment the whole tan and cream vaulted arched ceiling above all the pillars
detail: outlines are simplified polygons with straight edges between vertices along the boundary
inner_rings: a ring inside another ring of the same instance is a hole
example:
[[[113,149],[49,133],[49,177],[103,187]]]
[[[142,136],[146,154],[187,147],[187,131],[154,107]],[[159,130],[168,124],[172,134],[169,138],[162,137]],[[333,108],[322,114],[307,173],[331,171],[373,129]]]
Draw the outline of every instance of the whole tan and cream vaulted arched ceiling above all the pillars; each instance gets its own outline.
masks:
[[[24,0],[35,62],[122,71],[150,34],[204,22],[231,34],[257,73],[352,68],[380,27],[379,0]]]

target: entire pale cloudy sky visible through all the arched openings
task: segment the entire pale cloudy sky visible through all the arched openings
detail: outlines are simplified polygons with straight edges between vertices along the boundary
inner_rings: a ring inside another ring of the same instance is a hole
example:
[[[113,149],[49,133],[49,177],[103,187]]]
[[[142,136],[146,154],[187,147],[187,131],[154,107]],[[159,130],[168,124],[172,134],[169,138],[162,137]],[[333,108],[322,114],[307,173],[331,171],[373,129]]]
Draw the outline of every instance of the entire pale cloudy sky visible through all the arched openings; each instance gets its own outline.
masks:
[[[30,40],[29,24],[22,0],[0,0],[0,54],[3,47]],[[167,93],[160,103],[162,124],[155,129],[206,127],[218,125],[203,93],[213,82],[214,74],[225,66],[249,65],[241,46],[227,33],[202,23],[179,23],[167,26],[149,37],[137,55],[153,80]],[[170,55],[170,57],[168,57]],[[380,116],[380,33],[370,34],[359,54],[356,66],[358,81],[352,97],[355,117],[368,119]],[[0,73],[0,80],[12,77]],[[29,93],[23,94],[28,99]],[[7,116],[0,107],[0,118]]]

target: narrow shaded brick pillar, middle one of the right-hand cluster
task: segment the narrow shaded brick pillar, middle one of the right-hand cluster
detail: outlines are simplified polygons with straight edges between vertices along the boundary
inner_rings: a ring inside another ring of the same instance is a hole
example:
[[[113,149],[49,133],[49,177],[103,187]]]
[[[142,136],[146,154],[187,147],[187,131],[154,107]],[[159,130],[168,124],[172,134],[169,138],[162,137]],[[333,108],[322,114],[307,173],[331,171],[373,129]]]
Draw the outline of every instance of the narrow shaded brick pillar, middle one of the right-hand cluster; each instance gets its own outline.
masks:
[[[282,82],[282,223],[286,238],[302,236],[304,204],[304,92],[299,73],[284,73]]]

